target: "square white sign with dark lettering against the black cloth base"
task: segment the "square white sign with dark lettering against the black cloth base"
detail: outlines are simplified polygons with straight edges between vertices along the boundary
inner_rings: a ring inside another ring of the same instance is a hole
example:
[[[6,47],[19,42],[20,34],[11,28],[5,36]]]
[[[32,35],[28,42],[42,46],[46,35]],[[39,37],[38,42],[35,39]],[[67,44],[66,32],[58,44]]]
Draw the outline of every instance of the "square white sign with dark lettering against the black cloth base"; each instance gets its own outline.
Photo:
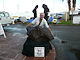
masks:
[[[45,48],[34,47],[34,57],[45,57]]]

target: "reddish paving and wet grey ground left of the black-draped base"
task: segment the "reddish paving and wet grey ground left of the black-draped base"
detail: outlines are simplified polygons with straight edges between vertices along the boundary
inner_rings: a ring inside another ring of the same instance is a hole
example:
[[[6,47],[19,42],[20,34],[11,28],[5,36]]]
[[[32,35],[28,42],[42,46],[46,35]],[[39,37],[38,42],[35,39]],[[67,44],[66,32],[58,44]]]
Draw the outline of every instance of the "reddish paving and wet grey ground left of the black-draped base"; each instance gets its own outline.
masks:
[[[0,36],[0,60],[24,60],[21,51],[27,38],[25,26],[17,24],[4,29],[7,38]]]

